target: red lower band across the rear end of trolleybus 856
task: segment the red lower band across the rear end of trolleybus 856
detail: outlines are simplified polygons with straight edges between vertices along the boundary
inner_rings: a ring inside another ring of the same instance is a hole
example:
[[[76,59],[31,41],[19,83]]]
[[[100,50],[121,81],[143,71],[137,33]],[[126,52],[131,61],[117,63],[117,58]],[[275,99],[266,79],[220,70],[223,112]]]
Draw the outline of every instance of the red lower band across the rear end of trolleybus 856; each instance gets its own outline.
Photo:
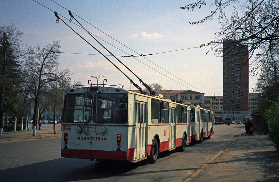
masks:
[[[128,151],[61,149],[61,157],[80,159],[127,160],[132,163],[134,161],[134,151],[135,148],[128,149]]]

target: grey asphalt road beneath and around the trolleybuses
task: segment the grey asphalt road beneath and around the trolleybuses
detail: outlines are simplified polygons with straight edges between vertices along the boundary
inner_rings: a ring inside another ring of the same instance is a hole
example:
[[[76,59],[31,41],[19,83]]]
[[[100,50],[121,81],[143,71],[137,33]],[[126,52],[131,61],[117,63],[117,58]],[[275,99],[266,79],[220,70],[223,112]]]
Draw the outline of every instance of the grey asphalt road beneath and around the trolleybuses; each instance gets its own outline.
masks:
[[[155,164],[61,158],[60,137],[1,142],[0,181],[184,181],[244,132],[244,125],[214,127],[210,140],[160,153]]]

